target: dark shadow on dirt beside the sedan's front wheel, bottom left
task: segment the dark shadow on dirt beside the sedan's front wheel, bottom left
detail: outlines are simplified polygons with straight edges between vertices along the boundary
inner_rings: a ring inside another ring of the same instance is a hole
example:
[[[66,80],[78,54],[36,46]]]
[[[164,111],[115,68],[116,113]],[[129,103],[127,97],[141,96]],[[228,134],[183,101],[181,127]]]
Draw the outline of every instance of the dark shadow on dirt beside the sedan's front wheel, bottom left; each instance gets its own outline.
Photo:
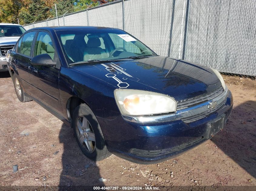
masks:
[[[62,155],[63,170],[60,175],[59,187],[65,190],[85,189],[84,186],[104,186],[95,161],[88,159],[76,142],[73,129],[63,123],[59,141],[64,145]],[[92,187],[91,187],[92,188]]]

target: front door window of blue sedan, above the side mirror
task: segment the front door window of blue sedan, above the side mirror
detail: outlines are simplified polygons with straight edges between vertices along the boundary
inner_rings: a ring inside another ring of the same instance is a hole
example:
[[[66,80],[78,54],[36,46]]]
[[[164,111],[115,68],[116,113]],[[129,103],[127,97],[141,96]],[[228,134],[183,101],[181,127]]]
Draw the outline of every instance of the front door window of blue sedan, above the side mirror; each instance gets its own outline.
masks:
[[[53,60],[54,53],[55,49],[53,47],[50,35],[45,32],[39,32],[35,42],[34,56],[38,56],[40,54],[48,54]]]

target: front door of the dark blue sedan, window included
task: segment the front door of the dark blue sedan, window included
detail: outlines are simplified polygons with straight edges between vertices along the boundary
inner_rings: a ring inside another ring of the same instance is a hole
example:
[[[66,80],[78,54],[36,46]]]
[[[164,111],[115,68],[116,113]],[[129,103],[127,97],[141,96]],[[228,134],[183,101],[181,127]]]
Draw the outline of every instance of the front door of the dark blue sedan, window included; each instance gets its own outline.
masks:
[[[29,75],[35,88],[36,98],[55,112],[62,114],[59,94],[59,68],[60,62],[55,45],[48,32],[39,31],[35,39],[32,56],[48,54],[57,63],[56,66],[31,65]]]

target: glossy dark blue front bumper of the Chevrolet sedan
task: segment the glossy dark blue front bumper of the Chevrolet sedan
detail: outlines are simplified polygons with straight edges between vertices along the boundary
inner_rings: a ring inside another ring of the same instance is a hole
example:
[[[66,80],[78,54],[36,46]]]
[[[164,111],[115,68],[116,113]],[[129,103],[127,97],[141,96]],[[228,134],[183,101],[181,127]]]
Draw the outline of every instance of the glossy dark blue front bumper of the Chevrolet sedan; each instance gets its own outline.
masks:
[[[135,163],[154,164],[174,158],[209,139],[209,122],[223,116],[226,121],[232,107],[233,98],[228,90],[218,110],[193,122],[177,119],[138,123],[119,116],[114,120],[100,118],[99,123],[110,152]]]

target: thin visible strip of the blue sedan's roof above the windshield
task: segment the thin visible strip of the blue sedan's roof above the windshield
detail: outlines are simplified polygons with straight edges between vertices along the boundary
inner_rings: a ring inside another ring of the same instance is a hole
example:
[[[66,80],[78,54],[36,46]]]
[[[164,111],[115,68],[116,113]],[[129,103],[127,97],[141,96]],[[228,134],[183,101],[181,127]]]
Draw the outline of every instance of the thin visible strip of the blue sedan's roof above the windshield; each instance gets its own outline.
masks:
[[[110,28],[110,27],[92,27],[92,26],[61,26],[61,27],[36,27],[30,30],[54,30],[54,31],[61,31],[61,30],[88,30],[88,29],[117,29],[117,28]]]

